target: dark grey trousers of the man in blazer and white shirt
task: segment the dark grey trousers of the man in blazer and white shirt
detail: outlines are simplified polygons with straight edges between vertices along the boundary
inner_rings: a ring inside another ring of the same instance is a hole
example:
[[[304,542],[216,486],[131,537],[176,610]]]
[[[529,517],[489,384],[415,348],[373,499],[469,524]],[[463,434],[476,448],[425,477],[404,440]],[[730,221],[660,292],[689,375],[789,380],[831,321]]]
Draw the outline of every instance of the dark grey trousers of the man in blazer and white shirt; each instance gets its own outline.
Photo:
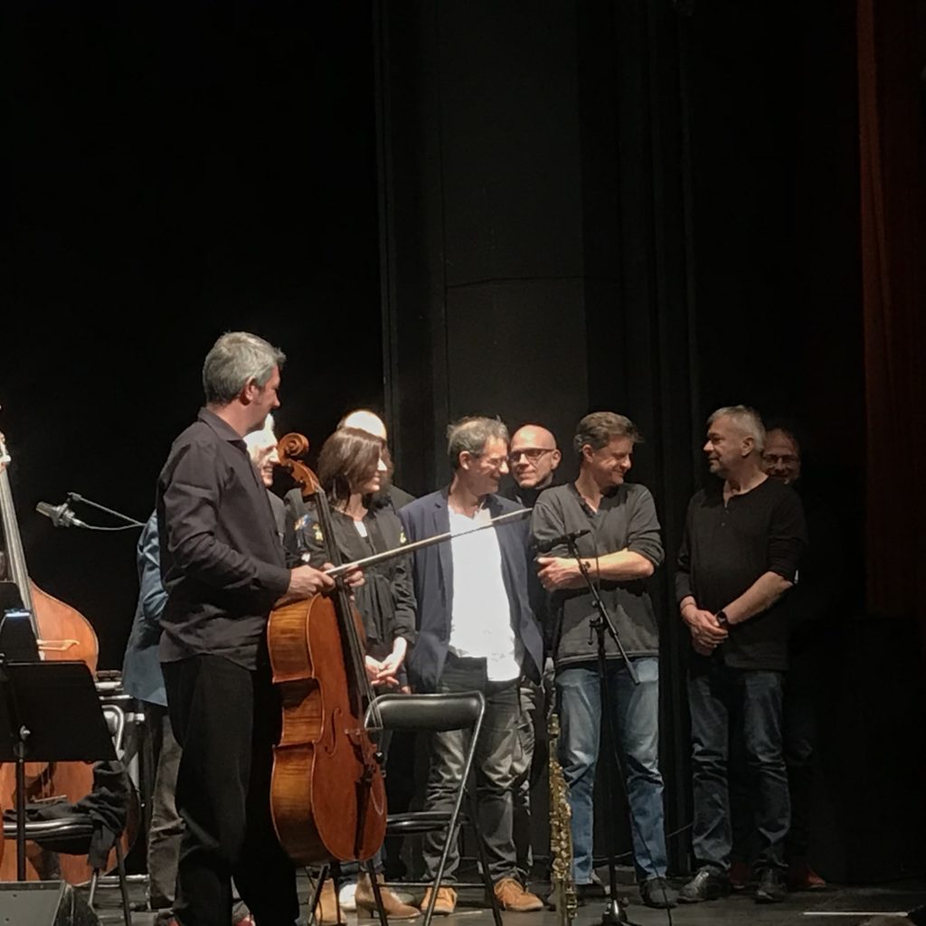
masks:
[[[450,655],[437,684],[437,691],[481,691],[485,696],[482,732],[473,756],[479,824],[485,839],[492,880],[498,882],[502,878],[517,878],[518,864],[511,813],[514,782],[511,759],[518,744],[518,679],[489,682],[484,659],[459,659]],[[467,733],[457,730],[432,733],[429,746],[431,764],[425,808],[449,811],[463,777]],[[429,880],[437,874],[443,847],[439,834],[424,834],[421,852]],[[447,855],[444,881],[456,880],[458,866],[459,850],[455,840]]]

